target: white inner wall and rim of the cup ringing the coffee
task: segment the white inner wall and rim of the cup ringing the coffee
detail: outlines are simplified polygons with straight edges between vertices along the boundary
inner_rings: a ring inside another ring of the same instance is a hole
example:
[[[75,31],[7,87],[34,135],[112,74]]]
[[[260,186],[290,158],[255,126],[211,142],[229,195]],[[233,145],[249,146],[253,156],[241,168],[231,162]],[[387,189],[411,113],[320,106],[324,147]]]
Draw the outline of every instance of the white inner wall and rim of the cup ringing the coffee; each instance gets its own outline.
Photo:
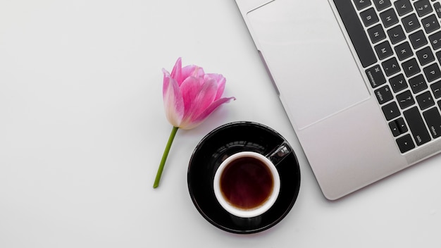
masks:
[[[263,164],[265,164],[265,166],[269,168],[269,171],[271,171],[271,176],[273,178],[273,189],[269,197],[266,199],[266,202],[263,202],[263,204],[257,206],[254,209],[241,209],[230,204],[230,202],[225,199],[223,193],[221,192],[221,175],[225,170],[225,167],[228,166],[232,161],[243,157],[252,157],[255,159],[259,159],[259,161],[263,162]],[[237,154],[233,154],[232,156],[229,156],[227,159],[225,159],[225,161],[221,163],[221,166],[219,166],[214,176],[213,189],[216,199],[218,200],[219,204],[221,204],[223,209],[238,217],[251,218],[265,213],[266,211],[268,211],[268,209],[271,208],[271,206],[273,206],[280,192],[280,177],[277,168],[275,168],[274,164],[268,158],[266,158],[266,156],[263,156],[262,154],[253,151],[242,151]]]

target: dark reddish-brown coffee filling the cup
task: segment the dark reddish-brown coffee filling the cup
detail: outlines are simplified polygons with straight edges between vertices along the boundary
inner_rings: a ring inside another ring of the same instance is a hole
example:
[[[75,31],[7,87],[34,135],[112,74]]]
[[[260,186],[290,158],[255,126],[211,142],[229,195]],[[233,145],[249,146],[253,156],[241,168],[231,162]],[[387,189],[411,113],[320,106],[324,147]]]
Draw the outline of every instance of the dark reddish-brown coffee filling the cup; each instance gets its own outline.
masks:
[[[270,197],[273,190],[270,169],[259,159],[242,157],[225,166],[221,175],[221,192],[240,209],[254,209]]]

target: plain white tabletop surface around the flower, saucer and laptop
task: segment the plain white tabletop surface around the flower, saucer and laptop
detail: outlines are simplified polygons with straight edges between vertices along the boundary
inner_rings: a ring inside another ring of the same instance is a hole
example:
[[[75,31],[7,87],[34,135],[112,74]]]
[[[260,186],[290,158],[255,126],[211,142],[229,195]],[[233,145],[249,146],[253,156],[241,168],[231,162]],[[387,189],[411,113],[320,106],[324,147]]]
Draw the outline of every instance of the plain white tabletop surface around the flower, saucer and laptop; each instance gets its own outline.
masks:
[[[171,127],[161,68],[227,78],[222,106]],[[199,215],[187,190],[196,144],[251,120],[294,147],[290,214],[255,235]],[[318,140],[317,142],[320,142]],[[0,247],[440,247],[441,156],[337,202],[325,200],[233,1],[0,0]]]

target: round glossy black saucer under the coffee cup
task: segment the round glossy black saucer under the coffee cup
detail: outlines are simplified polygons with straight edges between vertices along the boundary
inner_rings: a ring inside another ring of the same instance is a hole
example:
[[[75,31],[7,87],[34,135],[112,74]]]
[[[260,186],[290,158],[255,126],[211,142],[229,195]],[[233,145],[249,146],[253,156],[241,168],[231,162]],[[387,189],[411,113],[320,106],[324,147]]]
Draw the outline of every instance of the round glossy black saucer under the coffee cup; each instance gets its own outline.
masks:
[[[292,209],[299,194],[300,169],[294,151],[278,163],[280,194],[271,209],[261,216],[240,218],[225,211],[214,196],[213,178],[228,156],[240,151],[268,154],[283,142],[286,140],[275,130],[251,122],[228,123],[206,135],[194,149],[187,172],[190,197],[199,213],[230,233],[258,233],[279,223]]]

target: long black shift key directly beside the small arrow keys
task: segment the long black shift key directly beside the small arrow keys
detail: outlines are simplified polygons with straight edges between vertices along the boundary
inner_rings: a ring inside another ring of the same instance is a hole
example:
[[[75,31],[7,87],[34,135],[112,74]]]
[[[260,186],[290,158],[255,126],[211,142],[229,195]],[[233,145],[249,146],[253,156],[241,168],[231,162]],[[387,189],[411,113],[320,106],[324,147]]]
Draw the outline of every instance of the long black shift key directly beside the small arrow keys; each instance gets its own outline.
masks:
[[[423,118],[421,118],[418,107],[415,106],[404,111],[404,118],[409,125],[409,130],[411,130],[411,133],[414,136],[416,145],[421,146],[421,144],[430,141],[429,132],[424,124]]]

